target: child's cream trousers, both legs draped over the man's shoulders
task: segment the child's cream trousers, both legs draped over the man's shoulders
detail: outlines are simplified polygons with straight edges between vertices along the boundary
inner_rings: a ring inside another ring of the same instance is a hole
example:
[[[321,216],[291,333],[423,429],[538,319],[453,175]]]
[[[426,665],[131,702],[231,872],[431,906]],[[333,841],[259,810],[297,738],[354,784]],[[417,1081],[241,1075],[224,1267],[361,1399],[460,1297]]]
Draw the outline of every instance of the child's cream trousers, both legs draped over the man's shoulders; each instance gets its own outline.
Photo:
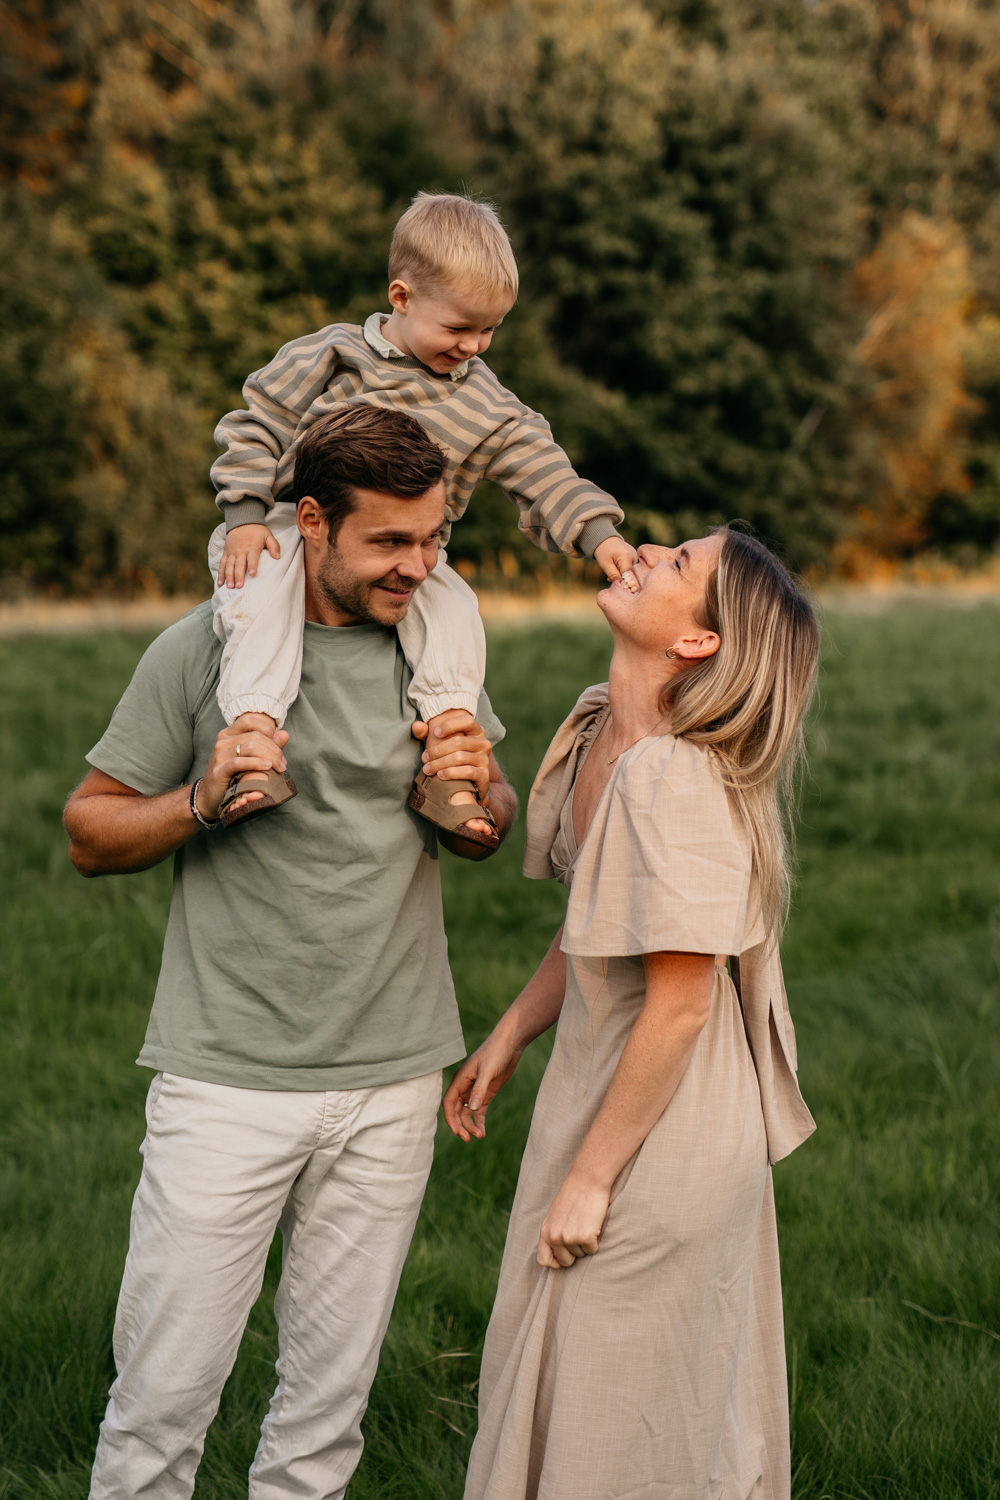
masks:
[[[211,597],[214,630],[223,644],[219,706],[228,724],[240,714],[270,714],[282,724],[298,694],[306,588],[295,507],[274,506],[267,525],[280,558],[264,552],[256,578],[247,578],[243,588],[216,586]],[[208,543],[213,579],[225,538],[225,526],[216,526]],[[486,676],[486,636],[475,594],[448,567],[444,552],[396,628],[414,674],[409,700],[421,718],[445,708],[475,714]]]

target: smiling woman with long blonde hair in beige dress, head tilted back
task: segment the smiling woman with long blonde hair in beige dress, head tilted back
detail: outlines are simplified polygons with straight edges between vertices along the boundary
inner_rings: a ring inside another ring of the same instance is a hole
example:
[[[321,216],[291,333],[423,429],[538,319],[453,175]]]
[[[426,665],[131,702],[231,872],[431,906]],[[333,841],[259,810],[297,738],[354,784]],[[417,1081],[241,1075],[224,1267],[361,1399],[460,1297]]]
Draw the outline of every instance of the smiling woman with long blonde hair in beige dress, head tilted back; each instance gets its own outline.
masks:
[[[777,1500],[790,1466],[769,1164],[814,1128],[777,956],[778,795],[817,627],[778,560],[729,530],[640,548],[633,586],[598,603],[609,684],[583,693],[528,806],[525,873],[570,886],[567,918],[445,1095],[454,1134],[481,1137],[558,1020],[465,1496]]]

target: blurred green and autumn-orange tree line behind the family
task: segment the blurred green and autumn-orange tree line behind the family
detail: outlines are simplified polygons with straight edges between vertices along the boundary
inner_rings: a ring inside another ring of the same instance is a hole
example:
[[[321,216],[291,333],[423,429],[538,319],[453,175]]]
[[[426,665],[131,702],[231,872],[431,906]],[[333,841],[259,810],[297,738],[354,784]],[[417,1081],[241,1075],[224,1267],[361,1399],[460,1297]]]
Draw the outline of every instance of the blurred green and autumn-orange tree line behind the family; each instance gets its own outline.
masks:
[[[492,196],[490,351],[634,536],[1000,538],[993,0],[0,0],[0,588],[199,590],[217,417]],[[559,568],[484,488],[466,570]]]

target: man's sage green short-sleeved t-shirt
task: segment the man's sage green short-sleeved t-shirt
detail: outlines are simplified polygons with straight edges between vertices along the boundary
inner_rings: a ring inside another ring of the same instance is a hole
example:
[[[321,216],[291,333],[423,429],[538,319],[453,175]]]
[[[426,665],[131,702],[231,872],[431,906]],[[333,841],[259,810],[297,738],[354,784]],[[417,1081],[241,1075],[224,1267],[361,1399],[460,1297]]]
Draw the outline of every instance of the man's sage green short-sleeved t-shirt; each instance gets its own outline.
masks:
[[[225,728],[201,604],[148,648],[87,759],[147,796],[199,776]],[[397,1083],[463,1056],[433,828],[396,632],[306,622],[285,728],[298,796],[174,856],[138,1062],[253,1089]],[[486,696],[480,723],[504,729]]]

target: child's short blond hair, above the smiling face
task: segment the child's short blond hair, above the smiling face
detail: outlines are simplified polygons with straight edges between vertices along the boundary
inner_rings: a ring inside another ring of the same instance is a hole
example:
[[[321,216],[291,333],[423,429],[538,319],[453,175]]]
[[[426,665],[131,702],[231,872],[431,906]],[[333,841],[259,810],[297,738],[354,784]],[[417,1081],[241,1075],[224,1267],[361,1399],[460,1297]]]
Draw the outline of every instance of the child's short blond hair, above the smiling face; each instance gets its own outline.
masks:
[[[388,279],[517,298],[517,261],[496,208],[459,194],[417,194],[393,231]]]

